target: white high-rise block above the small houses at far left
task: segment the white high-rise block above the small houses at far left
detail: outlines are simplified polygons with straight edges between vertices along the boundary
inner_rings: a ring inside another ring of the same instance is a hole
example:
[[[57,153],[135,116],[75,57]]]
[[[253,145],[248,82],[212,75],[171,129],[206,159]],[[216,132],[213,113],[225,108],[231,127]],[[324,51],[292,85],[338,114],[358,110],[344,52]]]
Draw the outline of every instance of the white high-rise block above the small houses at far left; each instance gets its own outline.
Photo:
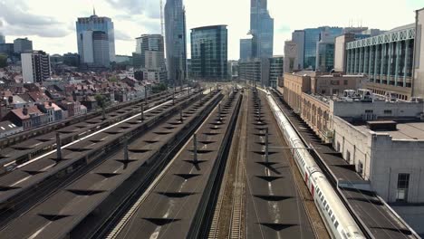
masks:
[[[51,77],[50,56],[43,51],[21,54],[24,82],[43,82]]]

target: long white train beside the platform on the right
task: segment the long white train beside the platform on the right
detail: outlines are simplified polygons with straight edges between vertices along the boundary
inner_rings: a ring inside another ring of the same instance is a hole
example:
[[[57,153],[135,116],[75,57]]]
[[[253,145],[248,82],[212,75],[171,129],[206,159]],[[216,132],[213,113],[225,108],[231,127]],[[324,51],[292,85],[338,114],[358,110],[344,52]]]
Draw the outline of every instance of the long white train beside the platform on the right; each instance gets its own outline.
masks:
[[[282,110],[275,103],[274,98],[269,91],[266,93],[268,103],[278,122],[278,127],[283,131],[284,138],[288,142],[289,147],[292,148],[291,151],[297,167],[304,177],[304,182],[308,186],[313,196],[313,201],[332,238],[365,238],[361,229],[353,220],[352,215],[342,204],[339,196],[334,192],[323,171],[315,163],[308,150],[305,149],[304,143],[288,119],[285,118]]]

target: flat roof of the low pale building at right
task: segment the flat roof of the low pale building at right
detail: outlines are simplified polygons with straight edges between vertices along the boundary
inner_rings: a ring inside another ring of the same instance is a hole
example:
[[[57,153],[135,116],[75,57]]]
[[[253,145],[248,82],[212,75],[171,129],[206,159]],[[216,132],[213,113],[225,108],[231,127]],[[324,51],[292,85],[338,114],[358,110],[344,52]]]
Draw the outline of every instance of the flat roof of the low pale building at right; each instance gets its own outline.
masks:
[[[379,120],[387,121],[387,120]],[[374,121],[374,122],[379,122]],[[424,140],[424,121],[420,120],[407,120],[407,119],[395,119],[396,130],[371,130],[368,127],[367,122],[361,121],[356,122],[354,126],[357,129],[360,129],[361,132],[368,133],[377,133],[377,134],[388,134],[392,139],[404,139],[404,140]],[[381,122],[384,123],[384,122]]]

